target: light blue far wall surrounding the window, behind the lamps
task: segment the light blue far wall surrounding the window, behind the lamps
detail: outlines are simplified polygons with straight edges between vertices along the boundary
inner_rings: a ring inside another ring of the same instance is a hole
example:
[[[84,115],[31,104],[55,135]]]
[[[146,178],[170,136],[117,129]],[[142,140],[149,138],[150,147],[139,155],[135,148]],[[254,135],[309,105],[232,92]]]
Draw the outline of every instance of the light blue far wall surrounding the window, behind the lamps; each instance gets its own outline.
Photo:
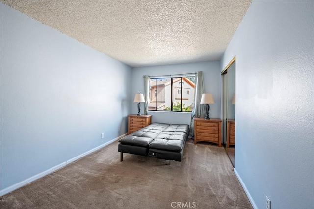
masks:
[[[197,71],[203,71],[206,93],[211,93],[214,97],[215,104],[210,104],[209,116],[211,118],[220,118],[221,75],[219,61],[133,68],[131,97],[134,98],[134,95],[137,93],[144,93],[144,75],[161,76],[195,73]],[[135,114],[137,113],[137,104],[133,103],[133,101],[131,102],[131,113]],[[141,112],[143,114],[143,107]],[[191,120],[191,113],[149,111],[149,114],[152,115],[152,122],[190,124]]]

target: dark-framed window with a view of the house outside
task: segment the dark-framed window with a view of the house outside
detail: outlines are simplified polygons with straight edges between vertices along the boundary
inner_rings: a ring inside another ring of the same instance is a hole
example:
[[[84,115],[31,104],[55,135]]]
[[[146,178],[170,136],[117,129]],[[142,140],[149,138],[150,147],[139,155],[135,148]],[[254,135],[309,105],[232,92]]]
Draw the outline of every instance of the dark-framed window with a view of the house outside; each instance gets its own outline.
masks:
[[[195,76],[150,78],[148,110],[191,112]]]

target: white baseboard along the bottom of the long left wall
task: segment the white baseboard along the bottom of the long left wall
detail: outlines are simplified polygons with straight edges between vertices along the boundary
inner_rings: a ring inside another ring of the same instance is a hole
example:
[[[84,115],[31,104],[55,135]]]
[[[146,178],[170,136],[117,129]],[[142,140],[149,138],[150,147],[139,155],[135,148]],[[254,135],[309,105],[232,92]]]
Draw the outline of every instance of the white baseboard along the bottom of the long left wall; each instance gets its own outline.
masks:
[[[87,152],[77,156],[77,157],[73,157],[72,159],[69,159],[69,160],[67,160],[65,162],[62,162],[62,163],[52,167],[52,168],[49,168],[46,171],[43,171],[43,172],[41,172],[39,174],[36,174],[36,175],[34,175],[34,176],[32,176],[32,177],[30,177],[30,178],[28,178],[28,179],[26,179],[26,180],[24,180],[22,182],[19,182],[19,183],[13,184],[12,186],[6,187],[5,189],[2,189],[0,191],[0,196],[5,195],[5,194],[7,194],[7,193],[9,193],[9,192],[11,192],[11,191],[13,191],[15,189],[18,189],[18,188],[26,185],[27,183],[31,183],[31,182],[33,182],[33,181],[35,181],[35,180],[37,180],[37,179],[39,179],[39,178],[41,178],[43,176],[46,176],[47,174],[50,174],[50,173],[52,173],[52,172],[54,172],[54,171],[56,171],[56,170],[58,170],[58,169],[60,169],[60,168],[62,168],[64,166],[66,166],[67,164],[69,164],[71,162],[74,162],[75,160],[78,160],[81,157],[84,157],[84,156],[86,156],[86,155],[88,155],[88,154],[90,154],[92,152],[95,152],[96,150],[99,150],[99,149],[105,147],[106,145],[111,144],[112,142],[114,142],[116,140],[119,140],[120,138],[122,138],[122,137],[124,137],[126,135],[128,135],[128,133],[125,133],[125,134],[123,134],[123,135],[121,135],[121,136],[119,136],[119,137],[117,137],[115,139],[112,139],[112,140],[110,140],[110,141],[108,141],[108,142],[106,142],[106,143],[104,143],[104,144],[102,144],[102,145],[100,145],[98,147],[95,147],[94,149],[91,149],[91,150],[89,150],[89,151],[87,151]]]

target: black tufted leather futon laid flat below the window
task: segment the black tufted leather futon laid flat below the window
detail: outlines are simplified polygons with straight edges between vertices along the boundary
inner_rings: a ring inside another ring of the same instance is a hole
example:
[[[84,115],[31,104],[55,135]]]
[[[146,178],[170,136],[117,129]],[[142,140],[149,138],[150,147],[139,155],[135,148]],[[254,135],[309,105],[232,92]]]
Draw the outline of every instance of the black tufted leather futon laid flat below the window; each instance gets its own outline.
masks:
[[[123,153],[181,161],[188,134],[186,124],[152,123],[119,140],[120,161]]]

